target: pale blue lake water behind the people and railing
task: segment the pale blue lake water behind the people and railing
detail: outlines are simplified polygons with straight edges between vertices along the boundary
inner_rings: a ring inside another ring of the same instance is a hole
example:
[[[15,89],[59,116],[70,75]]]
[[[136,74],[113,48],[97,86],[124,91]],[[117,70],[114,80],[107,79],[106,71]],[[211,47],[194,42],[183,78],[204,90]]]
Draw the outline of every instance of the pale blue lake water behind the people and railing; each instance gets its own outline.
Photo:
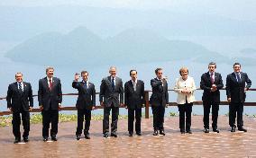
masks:
[[[237,39],[237,38],[236,38]],[[222,52],[229,52],[229,54],[225,54],[228,57],[232,57],[233,55],[240,55],[239,50],[241,48],[256,48],[256,39],[255,37],[249,38],[250,42],[243,41],[241,45],[239,45],[240,40],[244,39],[237,39],[237,40],[230,40],[231,43],[229,43],[226,49],[224,49],[224,43],[222,43],[222,40],[217,38],[215,39],[215,44],[211,44],[211,42],[206,42],[206,37],[179,37],[175,38],[175,40],[190,40],[190,41],[197,41],[197,43],[202,43],[202,45],[206,46],[207,48],[210,48],[210,50],[221,52],[220,50],[223,50]],[[209,40],[209,37],[208,37]],[[248,40],[248,38],[247,38]],[[253,40],[253,41],[252,41]],[[224,38],[226,43],[228,43],[228,38]],[[249,40],[248,40],[249,41]],[[233,44],[233,47],[232,47]],[[11,46],[14,45],[14,43],[0,43],[0,76],[1,76],[1,82],[0,82],[0,96],[5,97],[7,92],[7,87],[9,83],[14,82],[14,74],[16,72],[23,72],[23,80],[26,82],[32,83],[32,90],[33,93],[36,94],[38,91],[38,81],[40,78],[45,77],[45,67],[46,66],[36,66],[31,65],[29,63],[19,63],[19,62],[13,62],[8,58],[4,57],[5,50],[8,48],[11,48]],[[218,46],[218,47],[215,47]],[[233,51],[232,51],[233,50]],[[232,53],[232,52],[233,53]],[[164,57],[163,57],[164,58]],[[59,57],[58,60],[61,60],[61,57]],[[210,61],[210,59],[209,59]],[[207,61],[208,62],[208,61]],[[123,79],[123,83],[130,80],[129,71],[130,69],[137,69],[138,70],[138,78],[143,80],[145,83],[145,89],[151,90],[150,80],[151,78],[155,77],[154,75],[154,69],[156,67],[162,67],[164,69],[164,75],[168,76],[169,78],[169,89],[172,89],[174,87],[175,79],[179,76],[178,75],[178,69],[181,66],[187,66],[189,69],[189,75],[193,76],[196,82],[197,87],[199,87],[200,83],[200,76],[207,71],[207,64],[201,64],[201,63],[195,63],[191,62],[190,59],[182,60],[182,61],[175,61],[175,62],[155,62],[155,63],[137,63],[137,64],[131,64],[131,65],[116,65],[117,66],[117,74]],[[85,63],[85,66],[79,66],[79,67],[73,67],[73,66],[62,66],[62,67],[55,67],[55,76],[59,77],[62,83],[62,91],[63,93],[69,93],[69,92],[77,92],[75,89],[71,87],[71,83],[74,79],[74,74],[76,72],[80,72],[83,69],[86,69],[89,72],[89,80],[92,83],[96,84],[96,92],[99,92],[99,86],[101,79],[108,75],[108,68],[109,66],[101,66],[100,63],[96,63],[95,66],[87,66]],[[254,78],[256,78],[256,75],[253,73],[255,69],[255,66],[242,66],[242,71],[246,72],[252,81],[252,88],[256,87],[254,86]],[[226,64],[217,64],[217,72],[221,73],[223,76],[223,80],[225,83],[225,77],[227,74],[230,74],[233,72],[233,68],[231,65]],[[176,101],[177,94],[175,92],[169,92],[169,101]],[[201,101],[202,97],[202,91],[196,92],[196,99],[197,101]],[[77,97],[76,96],[64,96],[63,97],[63,106],[74,106],[76,103]],[[221,100],[225,101],[226,96],[225,92],[221,92]],[[98,98],[96,98],[96,103],[98,103]],[[255,92],[247,92],[247,101],[255,101]],[[34,98],[34,105],[35,107],[38,107],[38,101],[37,98]],[[0,101],[0,110],[6,110],[6,101]],[[72,111],[65,111],[65,113],[72,113]],[[168,115],[169,112],[177,112],[177,107],[170,107],[166,111],[166,114]],[[103,110],[95,110],[93,113],[95,114],[103,114]],[[194,106],[193,113],[202,115],[203,114],[203,108],[202,106]],[[226,114],[228,113],[228,106],[221,106],[220,108],[220,114]],[[245,107],[244,113],[246,114],[256,114],[256,107]],[[127,111],[124,109],[120,110],[120,114],[127,114]]]

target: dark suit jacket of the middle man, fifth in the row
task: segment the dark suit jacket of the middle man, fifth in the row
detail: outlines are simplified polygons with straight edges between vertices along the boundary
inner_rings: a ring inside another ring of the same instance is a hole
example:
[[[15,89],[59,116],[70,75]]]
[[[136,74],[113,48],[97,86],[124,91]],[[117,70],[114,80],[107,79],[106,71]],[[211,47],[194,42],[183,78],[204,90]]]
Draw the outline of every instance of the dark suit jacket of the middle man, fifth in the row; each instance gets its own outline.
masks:
[[[124,104],[129,109],[142,108],[142,104],[145,104],[144,83],[142,80],[137,80],[136,91],[134,91],[132,80],[124,84]]]

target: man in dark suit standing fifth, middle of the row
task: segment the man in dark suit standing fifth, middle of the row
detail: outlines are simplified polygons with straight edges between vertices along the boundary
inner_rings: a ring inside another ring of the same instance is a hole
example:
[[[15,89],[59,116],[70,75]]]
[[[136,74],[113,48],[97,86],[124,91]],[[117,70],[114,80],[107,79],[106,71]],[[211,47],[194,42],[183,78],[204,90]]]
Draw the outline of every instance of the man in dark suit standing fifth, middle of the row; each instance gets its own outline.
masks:
[[[133,136],[133,121],[135,112],[135,131],[138,136],[142,136],[142,107],[145,104],[144,83],[137,79],[137,71],[130,71],[131,80],[124,84],[124,104],[128,109],[128,131],[129,136]]]

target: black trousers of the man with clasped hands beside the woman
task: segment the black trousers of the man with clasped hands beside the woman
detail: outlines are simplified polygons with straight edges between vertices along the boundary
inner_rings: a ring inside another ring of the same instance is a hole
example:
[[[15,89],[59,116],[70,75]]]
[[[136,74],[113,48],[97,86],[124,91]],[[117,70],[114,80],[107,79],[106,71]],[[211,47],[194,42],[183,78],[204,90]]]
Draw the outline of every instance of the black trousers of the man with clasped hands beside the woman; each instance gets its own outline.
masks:
[[[205,128],[209,128],[209,114],[210,114],[210,110],[212,107],[212,127],[214,129],[217,128],[217,123],[218,123],[218,113],[219,113],[219,103],[215,103],[215,102],[203,102],[203,106],[204,106],[204,127]]]

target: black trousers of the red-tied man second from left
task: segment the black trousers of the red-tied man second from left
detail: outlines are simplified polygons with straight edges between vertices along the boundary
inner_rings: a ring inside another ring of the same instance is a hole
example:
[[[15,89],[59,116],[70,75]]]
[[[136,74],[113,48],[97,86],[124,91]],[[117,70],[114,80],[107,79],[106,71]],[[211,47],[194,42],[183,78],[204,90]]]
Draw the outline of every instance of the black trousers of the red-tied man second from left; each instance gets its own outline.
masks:
[[[58,123],[59,123],[59,110],[42,110],[42,136],[49,136],[49,128],[50,136],[56,136],[58,133]]]

